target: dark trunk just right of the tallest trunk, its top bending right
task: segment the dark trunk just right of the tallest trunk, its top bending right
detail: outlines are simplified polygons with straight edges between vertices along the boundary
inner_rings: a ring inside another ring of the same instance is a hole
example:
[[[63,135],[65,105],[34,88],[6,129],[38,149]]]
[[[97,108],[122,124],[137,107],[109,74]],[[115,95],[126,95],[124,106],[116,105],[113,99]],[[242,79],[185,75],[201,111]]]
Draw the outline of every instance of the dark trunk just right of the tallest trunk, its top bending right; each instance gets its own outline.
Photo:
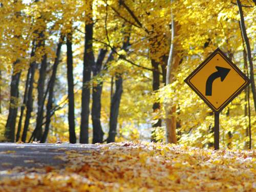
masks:
[[[102,68],[102,62],[108,50],[100,49],[96,66],[93,69],[93,76],[99,74]],[[103,82],[98,82],[97,86],[93,88],[93,104],[92,104],[92,121],[93,121],[93,144],[102,143],[104,132],[100,124],[100,110],[101,110],[101,92]]]

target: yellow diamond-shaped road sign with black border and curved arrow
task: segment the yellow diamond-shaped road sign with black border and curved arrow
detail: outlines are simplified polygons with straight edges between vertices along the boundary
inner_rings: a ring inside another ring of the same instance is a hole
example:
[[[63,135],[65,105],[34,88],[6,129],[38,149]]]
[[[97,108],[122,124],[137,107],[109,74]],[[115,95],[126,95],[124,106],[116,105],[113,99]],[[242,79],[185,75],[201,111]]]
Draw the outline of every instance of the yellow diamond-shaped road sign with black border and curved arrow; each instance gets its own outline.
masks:
[[[250,79],[219,48],[184,81],[216,114],[250,84]]]

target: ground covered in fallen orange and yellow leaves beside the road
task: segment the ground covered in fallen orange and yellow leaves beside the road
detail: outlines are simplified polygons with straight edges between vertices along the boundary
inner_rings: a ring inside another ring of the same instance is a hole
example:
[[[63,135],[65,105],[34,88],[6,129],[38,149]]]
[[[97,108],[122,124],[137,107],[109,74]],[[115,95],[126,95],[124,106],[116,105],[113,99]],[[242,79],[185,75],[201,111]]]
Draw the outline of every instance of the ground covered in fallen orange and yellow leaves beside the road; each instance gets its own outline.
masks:
[[[34,168],[3,178],[0,191],[256,191],[254,150],[139,141],[97,146],[59,157],[68,161],[65,169]]]

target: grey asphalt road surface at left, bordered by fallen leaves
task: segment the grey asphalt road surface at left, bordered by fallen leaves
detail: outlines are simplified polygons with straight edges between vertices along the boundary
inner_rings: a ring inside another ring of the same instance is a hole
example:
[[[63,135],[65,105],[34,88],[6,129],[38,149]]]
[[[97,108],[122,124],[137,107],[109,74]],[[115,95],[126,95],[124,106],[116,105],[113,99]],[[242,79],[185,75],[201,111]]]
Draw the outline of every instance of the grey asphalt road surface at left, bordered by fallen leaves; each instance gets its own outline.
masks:
[[[67,162],[58,157],[66,155],[65,152],[75,150],[87,154],[86,151],[96,150],[98,147],[93,144],[0,143],[0,178],[17,175],[18,173],[7,172],[14,167],[19,167],[21,170],[47,166],[55,169],[64,168]]]

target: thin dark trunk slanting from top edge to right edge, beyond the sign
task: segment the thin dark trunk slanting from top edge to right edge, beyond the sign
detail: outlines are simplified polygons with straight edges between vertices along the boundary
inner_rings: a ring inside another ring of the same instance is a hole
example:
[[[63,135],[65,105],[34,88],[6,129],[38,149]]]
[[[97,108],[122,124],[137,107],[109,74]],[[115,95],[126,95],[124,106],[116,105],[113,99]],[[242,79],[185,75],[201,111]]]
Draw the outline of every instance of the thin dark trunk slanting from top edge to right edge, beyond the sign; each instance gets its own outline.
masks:
[[[252,92],[252,96],[253,96],[254,109],[256,111],[256,90],[255,90],[255,81],[254,81],[250,42],[249,42],[249,38],[246,33],[246,28],[245,28],[245,23],[244,23],[244,14],[243,14],[243,9],[242,9],[240,0],[237,0],[237,5],[238,5],[238,9],[239,9],[239,14],[240,14],[241,29],[242,29],[242,33],[243,33],[243,37],[244,37],[244,41],[245,41],[245,45],[246,45],[247,59],[249,61],[249,66],[250,66],[251,92]]]

